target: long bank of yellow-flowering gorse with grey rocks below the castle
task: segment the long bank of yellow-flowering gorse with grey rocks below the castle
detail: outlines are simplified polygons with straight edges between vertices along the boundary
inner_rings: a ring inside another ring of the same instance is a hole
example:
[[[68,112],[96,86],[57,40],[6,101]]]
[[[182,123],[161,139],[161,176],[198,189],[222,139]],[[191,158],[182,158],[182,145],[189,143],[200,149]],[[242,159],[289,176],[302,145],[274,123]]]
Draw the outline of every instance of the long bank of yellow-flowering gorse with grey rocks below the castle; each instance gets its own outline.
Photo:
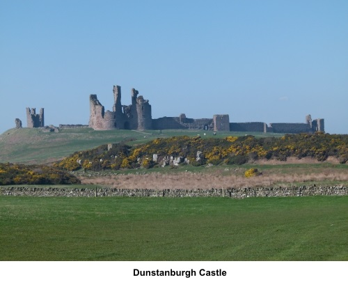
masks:
[[[156,159],[153,159],[154,156]],[[310,157],[324,162],[334,157],[341,164],[348,160],[348,135],[286,134],[281,138],[255,136],[228,136],[226,138],[203,139],[200,136],[173,136],[157,138],[139,146],[125,143],[106,145],[92,150],[76,152],[56,163],[61,169],[102,171],[105,169],[136,169],[166,164],[245,164],[259,159],[286,161],[289,157]],[[171,158],[171,159],[168,159]]]

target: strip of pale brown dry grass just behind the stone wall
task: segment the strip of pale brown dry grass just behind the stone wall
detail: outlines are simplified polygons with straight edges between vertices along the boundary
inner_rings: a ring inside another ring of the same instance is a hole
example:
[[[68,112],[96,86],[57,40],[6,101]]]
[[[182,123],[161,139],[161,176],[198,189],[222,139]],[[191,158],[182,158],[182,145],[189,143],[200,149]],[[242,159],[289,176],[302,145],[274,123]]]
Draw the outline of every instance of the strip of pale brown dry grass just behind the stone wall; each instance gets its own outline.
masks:
[[[323,170],[308,173],[303,169],[292,173],[266,171],[262,175],[245,178],[243,170],[228,169],[212,173],[147,173],[127,175],[107,175],[100,177],[80,177],[82,184],[105,185],[124,189],[221,189],[240,187],[271,187],[291,185],[293,182],[336,182],[348,183],[346,171]]]

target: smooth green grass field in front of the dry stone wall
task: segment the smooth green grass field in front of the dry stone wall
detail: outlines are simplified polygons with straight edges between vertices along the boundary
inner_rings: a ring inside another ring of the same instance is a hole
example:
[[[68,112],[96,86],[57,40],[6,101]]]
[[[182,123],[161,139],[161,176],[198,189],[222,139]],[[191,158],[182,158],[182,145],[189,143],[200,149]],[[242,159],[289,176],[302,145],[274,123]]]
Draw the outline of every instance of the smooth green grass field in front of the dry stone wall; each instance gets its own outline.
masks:
[[[348,260],[348,196],[0,197],[0,260]]]

